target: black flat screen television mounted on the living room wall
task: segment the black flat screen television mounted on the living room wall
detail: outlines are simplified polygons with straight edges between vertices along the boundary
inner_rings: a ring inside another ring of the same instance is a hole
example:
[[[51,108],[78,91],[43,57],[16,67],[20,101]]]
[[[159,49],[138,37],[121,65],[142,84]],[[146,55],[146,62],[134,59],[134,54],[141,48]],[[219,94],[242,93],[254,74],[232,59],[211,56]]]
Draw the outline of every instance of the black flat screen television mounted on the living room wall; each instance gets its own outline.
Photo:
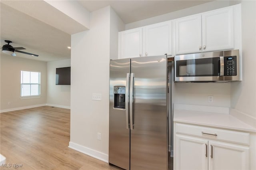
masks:
[[[70,85],[70,67],[56,68],[56,85]]]

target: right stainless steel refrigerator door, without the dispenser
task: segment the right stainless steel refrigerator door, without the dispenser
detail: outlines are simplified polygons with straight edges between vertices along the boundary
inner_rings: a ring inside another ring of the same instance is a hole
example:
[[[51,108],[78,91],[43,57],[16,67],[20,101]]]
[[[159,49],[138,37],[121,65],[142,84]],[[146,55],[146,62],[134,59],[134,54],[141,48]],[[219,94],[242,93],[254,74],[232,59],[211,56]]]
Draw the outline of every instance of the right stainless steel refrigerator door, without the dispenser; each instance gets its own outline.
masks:
[[[133,114],[130,170],[167,170],[166,56],[132,58],[132,73],[134,93],[133,110],[130,111]]]

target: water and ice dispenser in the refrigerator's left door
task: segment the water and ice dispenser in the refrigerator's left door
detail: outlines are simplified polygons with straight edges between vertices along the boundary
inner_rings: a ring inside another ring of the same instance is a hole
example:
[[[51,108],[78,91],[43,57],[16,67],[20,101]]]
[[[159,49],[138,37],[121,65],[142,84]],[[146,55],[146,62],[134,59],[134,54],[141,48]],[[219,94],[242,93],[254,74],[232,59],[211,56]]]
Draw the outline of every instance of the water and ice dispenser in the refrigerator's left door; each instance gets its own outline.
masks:
[[[114,86],[114,108],[125,109],[125,86]]]

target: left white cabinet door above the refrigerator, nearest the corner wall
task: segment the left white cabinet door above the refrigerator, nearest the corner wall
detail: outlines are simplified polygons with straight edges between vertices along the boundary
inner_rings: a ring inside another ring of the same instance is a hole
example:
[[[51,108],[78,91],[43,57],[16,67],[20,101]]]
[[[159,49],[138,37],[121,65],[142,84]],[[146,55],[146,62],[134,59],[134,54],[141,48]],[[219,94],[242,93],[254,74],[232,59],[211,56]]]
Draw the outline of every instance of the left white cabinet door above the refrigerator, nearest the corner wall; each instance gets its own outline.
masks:
[[[142,55],[142,28],[119,32],[118,58],[140,57]]]

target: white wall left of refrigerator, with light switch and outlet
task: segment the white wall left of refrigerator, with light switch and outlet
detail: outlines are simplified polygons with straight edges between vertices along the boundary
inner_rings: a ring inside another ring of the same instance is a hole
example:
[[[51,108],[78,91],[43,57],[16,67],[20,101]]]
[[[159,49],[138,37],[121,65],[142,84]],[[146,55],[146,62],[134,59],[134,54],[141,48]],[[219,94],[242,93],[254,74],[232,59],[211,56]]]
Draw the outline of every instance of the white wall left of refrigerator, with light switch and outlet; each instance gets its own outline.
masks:
[[[90,13],[90,30],[71,36],[70,148],[108,161],[110,6]],[[93,101],[92,94],[101,94]],[[101,140],[97,140],[101,133]],[[98,155],[98,156],[97,156]]]

